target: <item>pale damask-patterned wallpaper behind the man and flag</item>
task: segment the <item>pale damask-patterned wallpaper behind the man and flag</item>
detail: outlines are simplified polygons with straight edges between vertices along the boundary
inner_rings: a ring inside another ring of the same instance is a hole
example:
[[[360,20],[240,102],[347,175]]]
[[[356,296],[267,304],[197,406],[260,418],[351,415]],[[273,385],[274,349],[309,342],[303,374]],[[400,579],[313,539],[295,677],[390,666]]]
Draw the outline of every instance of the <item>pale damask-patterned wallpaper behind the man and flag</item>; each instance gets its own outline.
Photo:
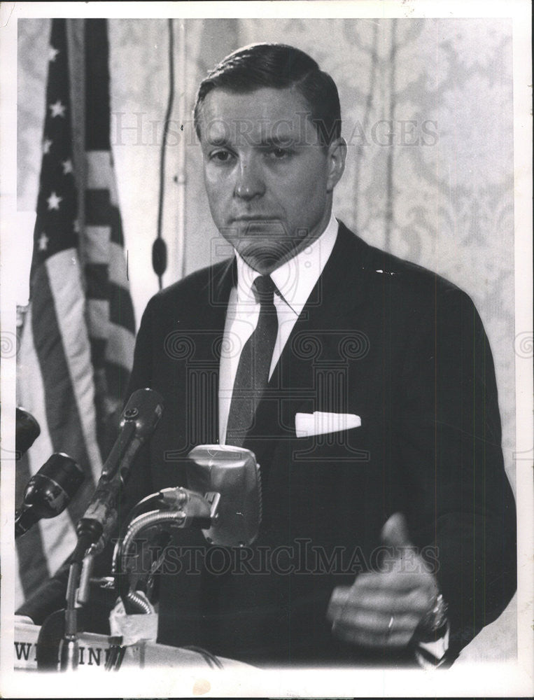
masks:
[[[110,20],[109,27],[113,150],[139,320],[157,290],[148,260],[156,230],[162,118],[169,89],[167,20]],[[48,20],[19,22],[21,211],[33,210],[36,202],[48,31]],[[366,241],[454,281],[479,309],[496,360],[505,461],[514,486],[511,23],[174,20],[174,32],[176,43],[185,38],[185,62],[175,62],[177,102],[174,139],[167,150],[164,216],[169,271],[164,283],[180,274],[174,209],[180,186],[174,181],[178,125],[184,125],[185,134],[185,271],[209,264],[213,241],[219,240],[207,209],[190,121],[199,79],[227,52],[253,41],[283,41],[306,50],[335,78],[342,102],[349,157],[335,193],[337,216]],[[181,112],[178,104],[183,105]],[[503,647],[503,640],[499,644]]]

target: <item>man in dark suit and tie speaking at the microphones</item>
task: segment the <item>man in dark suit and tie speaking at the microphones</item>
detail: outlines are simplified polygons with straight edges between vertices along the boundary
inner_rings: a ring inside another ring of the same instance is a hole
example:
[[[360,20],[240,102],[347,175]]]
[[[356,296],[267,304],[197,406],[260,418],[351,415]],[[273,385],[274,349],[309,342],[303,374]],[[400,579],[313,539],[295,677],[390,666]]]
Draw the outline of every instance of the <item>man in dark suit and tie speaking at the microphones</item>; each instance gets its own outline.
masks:
[[[150,386],[165,409],[123,512],[185,483],[190,449],[220,442],[254,452],[263,517],[230,559],[176,535],[158,639],[255,664],[452,659],[515,589],[477,311],[332,216],[339,97],[300,50],[224,59],[200,85],[195,127],[235,256],[143,315],[129,392]]]

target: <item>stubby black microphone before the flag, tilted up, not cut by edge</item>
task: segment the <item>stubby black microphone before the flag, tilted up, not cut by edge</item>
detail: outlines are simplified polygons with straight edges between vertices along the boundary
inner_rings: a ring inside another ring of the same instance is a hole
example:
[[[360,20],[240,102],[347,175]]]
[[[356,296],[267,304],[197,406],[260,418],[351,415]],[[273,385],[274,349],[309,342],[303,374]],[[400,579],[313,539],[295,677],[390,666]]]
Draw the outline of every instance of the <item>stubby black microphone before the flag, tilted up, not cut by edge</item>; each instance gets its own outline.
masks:
[[[15,512],[15,538],[24,535],[41,518],[62,513],[84,478],[71,457],[62,452],[52,454],[24,490],[22,506]]]

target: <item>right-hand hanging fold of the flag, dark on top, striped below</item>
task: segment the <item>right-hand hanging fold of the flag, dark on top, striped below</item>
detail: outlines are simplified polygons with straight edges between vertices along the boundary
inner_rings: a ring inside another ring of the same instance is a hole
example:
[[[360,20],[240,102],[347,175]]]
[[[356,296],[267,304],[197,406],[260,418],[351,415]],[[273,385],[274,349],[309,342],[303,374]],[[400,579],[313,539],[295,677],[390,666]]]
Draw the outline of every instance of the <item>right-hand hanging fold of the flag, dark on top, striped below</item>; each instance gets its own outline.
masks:
[[[85,20],[85,174],[84,226],[89,228],[84,273],[87,279],[87,328],[95,367],[99,444],[104,454],[118,425],[123,392],[132,369],[135,319],[124,260],[109,139],[110,97],[106,20]],[[110,322],[112,321],[112,322]],[[118,328],[123,326],[124,328]],[[112,355],[113,353],[113,355]],[[124,363],[121,384],[113,363]]]

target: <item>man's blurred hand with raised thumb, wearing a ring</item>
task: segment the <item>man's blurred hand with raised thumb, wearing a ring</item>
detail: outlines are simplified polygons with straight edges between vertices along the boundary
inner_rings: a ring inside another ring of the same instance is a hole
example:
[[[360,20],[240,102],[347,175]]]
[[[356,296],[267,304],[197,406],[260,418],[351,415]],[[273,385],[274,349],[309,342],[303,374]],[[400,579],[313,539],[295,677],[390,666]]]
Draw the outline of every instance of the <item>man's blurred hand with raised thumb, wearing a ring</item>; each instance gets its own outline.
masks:
[[[367,647],[405,647],[432,610],[438,592],[428,563],[409,540],[406,519],[395,513],[382,528],[381,570],[361,573],[351,587],[332,592],[327,617],[332,633]]]

